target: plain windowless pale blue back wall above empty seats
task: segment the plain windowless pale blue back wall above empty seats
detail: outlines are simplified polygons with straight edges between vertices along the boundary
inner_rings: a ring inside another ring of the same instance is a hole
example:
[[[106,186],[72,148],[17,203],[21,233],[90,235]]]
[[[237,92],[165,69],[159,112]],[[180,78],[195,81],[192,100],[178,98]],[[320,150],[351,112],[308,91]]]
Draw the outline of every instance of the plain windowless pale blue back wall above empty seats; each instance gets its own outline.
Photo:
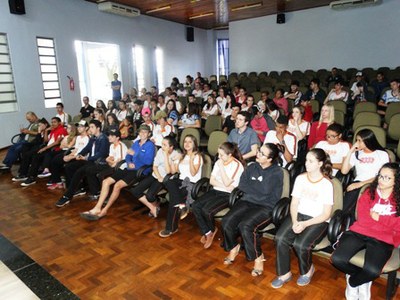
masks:
[[[329,6],[229,23],[231,72],[397,67],[399,0],[335,11]]]

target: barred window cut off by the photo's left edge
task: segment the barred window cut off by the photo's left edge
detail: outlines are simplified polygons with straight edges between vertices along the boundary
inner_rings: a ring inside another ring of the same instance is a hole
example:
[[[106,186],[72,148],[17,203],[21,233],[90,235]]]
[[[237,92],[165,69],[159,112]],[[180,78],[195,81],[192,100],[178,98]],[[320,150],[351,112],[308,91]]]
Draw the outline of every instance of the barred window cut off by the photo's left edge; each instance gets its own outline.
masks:
[[[0,113],[18,110],[7,35],[0,33]]]

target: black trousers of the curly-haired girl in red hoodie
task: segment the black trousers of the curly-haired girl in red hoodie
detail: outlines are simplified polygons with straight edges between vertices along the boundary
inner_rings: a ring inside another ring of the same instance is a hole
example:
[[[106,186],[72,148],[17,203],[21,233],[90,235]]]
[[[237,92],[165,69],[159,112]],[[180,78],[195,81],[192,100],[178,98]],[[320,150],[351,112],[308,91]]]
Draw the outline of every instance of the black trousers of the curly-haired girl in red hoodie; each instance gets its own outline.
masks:
[[[350,259],[362,249],[365,249],[365,259],[364,266],[360,268],[350,263]],[[393,245],[354,231],[346,231],[339,239],[331,261],[340,271],[350,275],[349,283],[356,287],[378,278],[392,252]]]

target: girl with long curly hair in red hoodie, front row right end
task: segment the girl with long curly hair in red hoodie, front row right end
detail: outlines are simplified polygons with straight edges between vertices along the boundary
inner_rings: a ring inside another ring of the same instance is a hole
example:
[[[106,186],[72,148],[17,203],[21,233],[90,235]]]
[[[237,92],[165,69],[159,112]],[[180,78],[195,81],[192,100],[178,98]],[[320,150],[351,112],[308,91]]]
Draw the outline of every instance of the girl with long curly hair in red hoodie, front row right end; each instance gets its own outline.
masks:
[[[397,163],[386,163],[358,200],[357,220],[339,239],[332,264],[346,274],[346,298],[370,299],[393,248],[400,246],[400,173]],[[365,249],[364,266],[350,259]]]

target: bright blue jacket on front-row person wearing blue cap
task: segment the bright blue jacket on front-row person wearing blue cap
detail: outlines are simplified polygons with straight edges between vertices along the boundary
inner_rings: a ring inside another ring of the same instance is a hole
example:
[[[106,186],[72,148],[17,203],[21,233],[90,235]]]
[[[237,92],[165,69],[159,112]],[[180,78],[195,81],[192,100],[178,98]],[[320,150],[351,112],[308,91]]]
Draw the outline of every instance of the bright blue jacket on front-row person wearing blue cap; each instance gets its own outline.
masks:
[[[135,153],[133,155],[127,154],[125,157],[125,161],[128,164],[127,169],[129,169],[129,164],[133,163],[135,168],[133,170],[138,170],[140,167],[144,165],[152,165],[154,161],[154,156],[156,153],[156,146],[150,140],[147,140],[142,146],[140,146],[140,140],[137,140],[131,146],[131,150]],[[151,168],[144,172],[144,175],[147,175],[151,172]]]

